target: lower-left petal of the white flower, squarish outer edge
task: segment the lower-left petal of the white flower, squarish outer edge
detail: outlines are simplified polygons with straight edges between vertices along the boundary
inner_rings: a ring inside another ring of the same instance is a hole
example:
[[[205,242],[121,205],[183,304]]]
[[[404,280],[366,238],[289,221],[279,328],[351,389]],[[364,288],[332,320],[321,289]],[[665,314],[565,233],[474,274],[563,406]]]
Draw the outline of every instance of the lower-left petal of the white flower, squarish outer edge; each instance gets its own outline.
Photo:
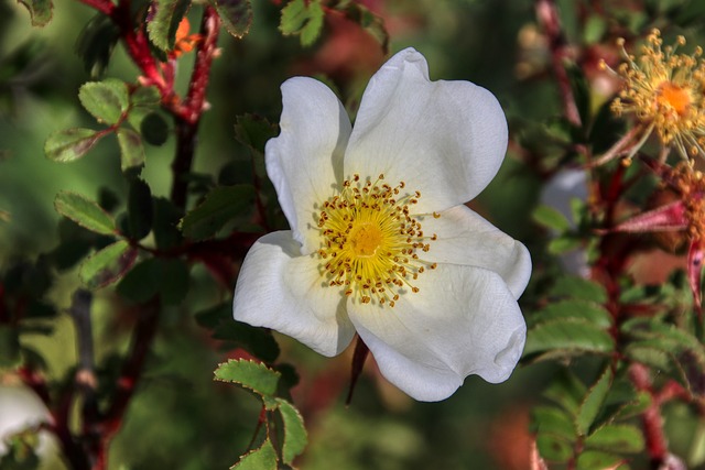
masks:
[[[340,353],[355,336],[344,294],[325,286],[317,261],[300,255],[289,230],[265,234],[247,253],[232,316],[291,336],[328,357]]]

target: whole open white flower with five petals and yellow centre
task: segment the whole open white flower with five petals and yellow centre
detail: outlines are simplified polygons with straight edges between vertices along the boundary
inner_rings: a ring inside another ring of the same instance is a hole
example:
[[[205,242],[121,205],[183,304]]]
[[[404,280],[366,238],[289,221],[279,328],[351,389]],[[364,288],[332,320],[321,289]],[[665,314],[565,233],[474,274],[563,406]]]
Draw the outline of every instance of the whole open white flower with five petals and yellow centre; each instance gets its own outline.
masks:
[[[371,78],[355,128],[322,83],[282,85],[281,133],[267,172],[291,230],[250,249],[234,316],[324,356],[357,332],[381,373],[440,401],[467,375],[507,380],[524,346],[517,299],[523,244],[464,203],[507,149],[497,99],[468,81],[431,81],[413,48]]]

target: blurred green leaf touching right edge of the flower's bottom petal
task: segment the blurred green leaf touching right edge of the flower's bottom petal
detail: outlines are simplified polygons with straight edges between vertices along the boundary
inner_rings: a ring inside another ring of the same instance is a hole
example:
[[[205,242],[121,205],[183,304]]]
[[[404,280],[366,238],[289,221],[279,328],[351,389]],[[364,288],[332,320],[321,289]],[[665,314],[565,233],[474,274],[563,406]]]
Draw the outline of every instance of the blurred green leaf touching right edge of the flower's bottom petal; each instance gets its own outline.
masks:
[[[529,329],[524,356],[550,350],[606,353],[615,349],[608,331],[578,318],[558,318]]]

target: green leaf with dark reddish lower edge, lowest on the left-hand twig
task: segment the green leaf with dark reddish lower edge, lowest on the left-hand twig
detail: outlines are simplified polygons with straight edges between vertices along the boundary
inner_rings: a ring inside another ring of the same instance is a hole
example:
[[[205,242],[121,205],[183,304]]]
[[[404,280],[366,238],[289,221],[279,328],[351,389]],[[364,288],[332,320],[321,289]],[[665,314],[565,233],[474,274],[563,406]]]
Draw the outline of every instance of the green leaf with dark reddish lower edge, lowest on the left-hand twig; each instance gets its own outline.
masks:
[[[99,288],[118,281],[137,260],[138,250],[127,240],[107,245],[80,264],[80,280],[89,288]]]

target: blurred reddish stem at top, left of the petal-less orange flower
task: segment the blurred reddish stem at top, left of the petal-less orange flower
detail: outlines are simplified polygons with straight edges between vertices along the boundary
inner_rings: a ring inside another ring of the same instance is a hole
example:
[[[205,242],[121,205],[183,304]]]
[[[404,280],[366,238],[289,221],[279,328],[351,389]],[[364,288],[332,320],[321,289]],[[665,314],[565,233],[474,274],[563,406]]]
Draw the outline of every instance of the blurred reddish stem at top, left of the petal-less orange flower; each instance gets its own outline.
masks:
[[[574,125],[581,127],[581,114],[575,103],[575,97],[571,89],[571,80],[563,64],[567,56],[565,35],[561,29],[558,11],[554,0],[535,0],[536,18],[549,40],[551,51],[551,65],[558,84],[561,102],[565,118]]]

